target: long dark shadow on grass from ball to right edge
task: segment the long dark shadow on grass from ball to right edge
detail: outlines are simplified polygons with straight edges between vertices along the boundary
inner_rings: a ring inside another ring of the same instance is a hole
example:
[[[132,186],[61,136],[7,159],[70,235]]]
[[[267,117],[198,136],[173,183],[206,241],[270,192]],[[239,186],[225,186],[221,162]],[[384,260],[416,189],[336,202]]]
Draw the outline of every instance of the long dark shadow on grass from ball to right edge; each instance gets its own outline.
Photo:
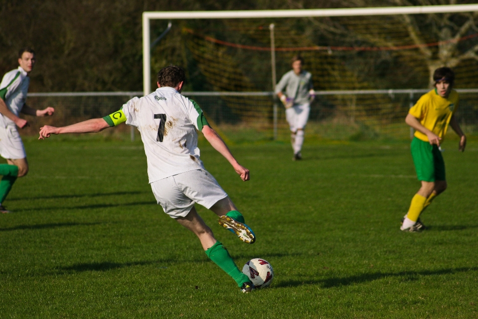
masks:
[[[415,281],[418,280],[420,276],[435,276],[435,275],[446,275],[446,274],[455,274],[455,273],[465,273],[468,271],[477,271],[478,267],[462,267],[462,268],[448,268],[441,270],[425,270],[425,271],[404,271],[399,273],[367,273],[356,276],[349,276],[343,278],[328,278],[323,280],[295,280],[295,281],[286,281],[279,283],[275,287],[297,287],[301,285],[314,285],[319,284],[323,288],[333,288],[339,286],[350,286],[353,284],[361,284],[366,282],[371,282],[374,280],[389,278],[389,277],[402,277],[403,281]]]

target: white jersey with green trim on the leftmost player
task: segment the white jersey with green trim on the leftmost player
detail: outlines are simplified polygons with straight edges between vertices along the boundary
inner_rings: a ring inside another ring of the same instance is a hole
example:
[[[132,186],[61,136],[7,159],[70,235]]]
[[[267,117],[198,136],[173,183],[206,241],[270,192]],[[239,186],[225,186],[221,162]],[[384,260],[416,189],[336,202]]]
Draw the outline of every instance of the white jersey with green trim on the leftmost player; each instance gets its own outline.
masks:
[[[29,84],[30,78],[20,66],[6,73],[1,80],[0,98],[5,102],[11,113],[16,116],[20,114],[23,105],[25,105]],[[14,124],[12,120],[0,114],[0,125],[2,127]]]

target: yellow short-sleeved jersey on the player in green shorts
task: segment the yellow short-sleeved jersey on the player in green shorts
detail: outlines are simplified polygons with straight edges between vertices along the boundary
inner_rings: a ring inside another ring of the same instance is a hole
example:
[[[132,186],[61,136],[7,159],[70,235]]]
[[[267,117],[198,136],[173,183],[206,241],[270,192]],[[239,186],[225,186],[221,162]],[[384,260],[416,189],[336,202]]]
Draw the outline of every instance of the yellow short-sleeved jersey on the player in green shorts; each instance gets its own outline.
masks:
[[[422,95],[408,113],[443,140],[445,134],[447,134],[448,124],[458,109],[458,102],[457,91],[452,90],[448,98],[443,98],[437,93],[436,89],[433,89]],[[416,131],[415,137],[424,142],[429,142],[428,137],[422,132]]]

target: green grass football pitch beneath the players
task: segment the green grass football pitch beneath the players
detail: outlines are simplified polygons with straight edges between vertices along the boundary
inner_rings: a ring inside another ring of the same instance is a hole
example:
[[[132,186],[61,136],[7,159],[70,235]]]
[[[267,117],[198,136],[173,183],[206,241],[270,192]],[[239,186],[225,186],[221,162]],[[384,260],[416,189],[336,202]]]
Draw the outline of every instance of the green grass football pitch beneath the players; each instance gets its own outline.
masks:
[[[232,148],[242,182],[201,157],[245,215],[247,245],[199,207],[241,267],[268,260],[270,288],[243,295],[166,216],[140,142],[25,142],[30,172],[0,217],[1,318],[477,318],[478,143],[444,144],[448,190],[403,233],[419,187],[407,142]]]

